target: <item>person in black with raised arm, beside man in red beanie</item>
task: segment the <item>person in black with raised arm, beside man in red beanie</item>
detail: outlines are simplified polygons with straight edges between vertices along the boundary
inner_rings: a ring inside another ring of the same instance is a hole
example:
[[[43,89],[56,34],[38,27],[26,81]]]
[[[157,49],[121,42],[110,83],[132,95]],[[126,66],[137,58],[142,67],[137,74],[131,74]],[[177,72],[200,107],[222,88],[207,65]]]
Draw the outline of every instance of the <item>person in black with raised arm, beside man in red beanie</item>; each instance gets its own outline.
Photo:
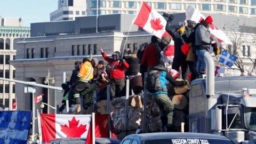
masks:
[[[171,20],[167,20],[165,30],[172,36],[174,41],[174,58],[172,62],[172,69],[179,71],[181,67],[182,78],[188,79],[188,63],[186,61],[187,55],[181,51],[181,46],[185,44],[181,35],[185,32],[185,29],[180,26],[179,28],[172,30]]]

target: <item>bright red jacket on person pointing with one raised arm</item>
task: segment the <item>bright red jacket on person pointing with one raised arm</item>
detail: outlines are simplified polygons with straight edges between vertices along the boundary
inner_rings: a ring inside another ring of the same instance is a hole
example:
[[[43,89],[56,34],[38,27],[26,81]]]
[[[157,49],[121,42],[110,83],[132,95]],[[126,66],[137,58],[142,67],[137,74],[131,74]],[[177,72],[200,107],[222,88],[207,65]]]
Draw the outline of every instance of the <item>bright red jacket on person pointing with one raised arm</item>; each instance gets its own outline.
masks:
[[[129,64],[125,61],[121,66],[119,66],[119,61],[113,61],[113,59],[107,57],[106,53],[102,53],[102,56],[110,64],[110,78],[123,79],[124,69],[129,68]]]

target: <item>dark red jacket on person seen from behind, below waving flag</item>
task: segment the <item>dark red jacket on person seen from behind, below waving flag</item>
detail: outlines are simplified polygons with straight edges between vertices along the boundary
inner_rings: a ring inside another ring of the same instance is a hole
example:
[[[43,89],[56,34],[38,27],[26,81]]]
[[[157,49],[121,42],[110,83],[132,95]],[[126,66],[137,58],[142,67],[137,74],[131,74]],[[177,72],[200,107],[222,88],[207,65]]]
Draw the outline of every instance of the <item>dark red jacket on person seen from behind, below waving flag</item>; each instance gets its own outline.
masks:
[[[157,48],[154,47],[152,44],[149,44],[143,54],[141,65],[156,66],[157,64]]]

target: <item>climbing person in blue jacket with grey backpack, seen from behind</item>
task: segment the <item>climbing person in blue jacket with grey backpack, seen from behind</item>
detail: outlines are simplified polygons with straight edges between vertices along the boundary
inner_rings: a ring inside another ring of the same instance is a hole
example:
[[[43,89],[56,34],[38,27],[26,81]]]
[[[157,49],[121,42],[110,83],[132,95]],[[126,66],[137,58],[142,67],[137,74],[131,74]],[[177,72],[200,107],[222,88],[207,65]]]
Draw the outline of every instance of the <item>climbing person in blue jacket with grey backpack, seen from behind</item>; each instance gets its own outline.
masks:
[[[172,131],[173,129],[172,121],[174,109],[172,100],[167,95],[167,82],[170,82],[175,86],[183,86],[187,84],[186,81],[176,81],[169,73],[167,73],[166,68],[164,67],[164,62],[160,61],[160,63],[157,66],[154,66],[148,74],[147,89],[160,110],[162,131],[165,132]]]

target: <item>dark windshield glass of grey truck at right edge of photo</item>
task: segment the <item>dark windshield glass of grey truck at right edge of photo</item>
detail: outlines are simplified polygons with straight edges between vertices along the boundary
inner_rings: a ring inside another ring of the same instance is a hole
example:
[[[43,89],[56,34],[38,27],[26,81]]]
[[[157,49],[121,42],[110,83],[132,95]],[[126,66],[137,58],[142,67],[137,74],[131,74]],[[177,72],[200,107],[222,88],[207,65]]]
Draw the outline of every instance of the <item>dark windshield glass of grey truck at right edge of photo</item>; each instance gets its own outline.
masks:
[[[247,129],[256,131],[256,108],[245,107],[244,118]]]

